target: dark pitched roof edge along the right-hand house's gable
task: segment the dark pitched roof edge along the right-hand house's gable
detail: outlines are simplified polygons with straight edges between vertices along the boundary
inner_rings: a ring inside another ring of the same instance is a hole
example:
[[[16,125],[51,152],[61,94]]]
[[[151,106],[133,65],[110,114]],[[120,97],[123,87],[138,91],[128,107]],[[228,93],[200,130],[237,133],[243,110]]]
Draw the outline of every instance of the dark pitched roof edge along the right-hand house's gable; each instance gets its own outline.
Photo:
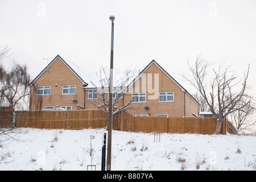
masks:
[[[179,88],[182,89],[183,92],[187,93],[195,102],[197,102],[198,105],[200,105],[199,102],[198,102],[197,100],[195,100],[195,98],[194,98],[189,92],[187,92],[187,90],[186,90],[181,84],[179,84],[179,82],[178,82],[177,80],[175,80],[169,73],[167,73],[167,72],[165,71],[165,69],[163,69],[163,68],[161,67],[161,65],[159,65],[159,64],[157,63],[157,61],[155,61],[155,60],[152,60],[152,61],[139,73],[139,75],[129,84],[129,86],[127,86],[127,88],[129,88],[130,85],[133,84],[133,83],[135,82],[135,80],[137,80],[137,79],[142,75],[142,73],[144,73],[144,72],[147,70],[147,68],[149,68],[149,67],[151,66],[151,64],[153,64],[153,63],[154,63],[155,65],[157,65],[158,68],[160,68],[169,78],[171,78],[171,80],[173,80],[173,81],[175,82],[175,84],[177,84],[177,85],[179,86]]]

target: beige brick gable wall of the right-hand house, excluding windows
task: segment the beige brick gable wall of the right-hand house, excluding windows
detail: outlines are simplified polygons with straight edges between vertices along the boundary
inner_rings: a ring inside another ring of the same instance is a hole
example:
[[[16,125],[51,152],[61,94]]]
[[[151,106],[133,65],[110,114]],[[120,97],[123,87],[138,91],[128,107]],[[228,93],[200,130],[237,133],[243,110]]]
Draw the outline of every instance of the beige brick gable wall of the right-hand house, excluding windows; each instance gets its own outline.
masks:
[[[129,110],[132,114],[150,114],[154,116],[156,114],[168,114],[169,116],[184,116],[185,114],[185,107],[184,107],[184,94],[185,92],[173,81],[169,76],[167,76],[156,64],[151,64],[150,67],[144,72],[147,81],[146,81],[146,88],[153,88],[158,86],[159,92],[174,92],[174,102],[159,102],[159,97],[154,100],[150,100],[149,97],[153,96],[150,94],[148,89],[146,90],[146,102],[142,103],[132,103],[136,110]],[[148,75],[148,73],[152,73],[152,75]],[[155,84],[154,74],[158,74],[159,82]],[[149,85],[148,78],[152,77],[152,85]],[[139,92],[143,92],[142,90],[142,80],[139,81]],[[144,82],[144,81],[143,81]],[[135,89],[133,88],[133,92]],[[156,93],[159,96],[158,93]],[[126,94],[125,96],[125,103],[129,102],[131,99],[131,93]],[[149,110],[145,110],[145,107],[149,107]],[[198,106],[194,100],[191,99],[190,104],[190,97],[186,94],[186,116],[191,117],[192,113],[198,114]]]

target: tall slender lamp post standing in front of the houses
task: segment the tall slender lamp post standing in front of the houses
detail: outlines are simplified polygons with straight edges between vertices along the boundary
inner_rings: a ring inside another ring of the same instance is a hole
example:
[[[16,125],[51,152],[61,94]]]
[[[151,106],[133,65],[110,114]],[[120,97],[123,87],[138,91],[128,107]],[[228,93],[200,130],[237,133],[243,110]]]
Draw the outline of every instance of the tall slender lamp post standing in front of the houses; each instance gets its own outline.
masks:
[[[107,122],[107,171],[111,171],[111,140],[113,122],[113,48],[114,48],[114,20],[115,16],[109,16],[111,24],[111,53],[110,53],[110,81],[109,81],[109,121]]]

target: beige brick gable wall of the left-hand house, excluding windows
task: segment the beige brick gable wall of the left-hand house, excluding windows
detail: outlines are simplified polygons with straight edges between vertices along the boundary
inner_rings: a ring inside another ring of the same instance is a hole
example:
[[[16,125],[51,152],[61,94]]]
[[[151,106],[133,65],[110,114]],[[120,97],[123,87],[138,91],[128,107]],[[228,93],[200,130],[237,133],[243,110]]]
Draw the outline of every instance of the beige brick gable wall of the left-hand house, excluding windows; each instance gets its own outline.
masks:
[[[55,84],[58,84],[56,87]],[[83,106],[83,82],[59,59],[34,82],[35,88],[37,86],[51,86],[50,96],[42,96],[42,110],[43,106],[54,106],[54,109],[59,106],[72,106],[72,109],[77,109],[77,104]],[[76,94],[62,94],[63,85],[76,85]],[[30,88],[31,93],[35,92],[33,86]],[[78,103],[74,104],[73,100]],[[37,99],[35,94],[30,97],[30,109],[36,109]]]

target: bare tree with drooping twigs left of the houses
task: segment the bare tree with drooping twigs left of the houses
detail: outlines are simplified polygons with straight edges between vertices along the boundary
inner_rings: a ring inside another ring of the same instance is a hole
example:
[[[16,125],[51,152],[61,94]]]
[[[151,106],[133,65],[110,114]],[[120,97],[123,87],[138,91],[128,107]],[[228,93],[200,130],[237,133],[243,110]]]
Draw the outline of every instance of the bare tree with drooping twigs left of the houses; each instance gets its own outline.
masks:
[[[12,119],[11,126],[15,127],[15,110],[22,108],[25,104],[25,97],[30,95],[30,76],[27,73],[26,65],[19,65],[13,62],[10,71],[2,69],[1,96],[11,105]]]

